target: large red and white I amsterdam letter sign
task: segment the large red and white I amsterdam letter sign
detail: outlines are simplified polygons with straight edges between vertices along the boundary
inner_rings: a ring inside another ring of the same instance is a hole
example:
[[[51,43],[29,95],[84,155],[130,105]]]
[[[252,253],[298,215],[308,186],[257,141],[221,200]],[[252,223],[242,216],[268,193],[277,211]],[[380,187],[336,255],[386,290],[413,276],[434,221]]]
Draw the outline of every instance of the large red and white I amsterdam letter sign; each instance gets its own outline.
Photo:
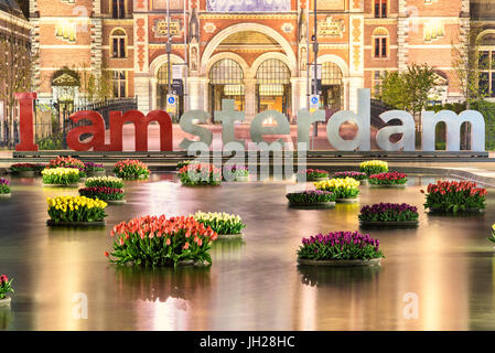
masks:
[[[20,101],[20,126],[21,126],[21,143],[15,146],[18,151],[37,151],[34,143],[33,133],[33,99],[36,98],[35,93],[18,94]],[[204,110],[190,110],[181,117],[181,129],[184,132],[198,137],[202,146],[211,146],[213,133],[205,127],[193,124],[194,120],[206,122],[208,114]],[[263,121],[272,118],[277,121],[277,126],[263,126]],[[379,148],[386,151],[412,151],[415,150],[415,120],[412,116],[403,110],[389,110],[380,115],[380,118],[388,122],[397,119],[401,121],[400,126],[386,126],[378,130],[376,141]],[[105,121],[96,111],[77,111],[71,116],[71,119],[77,124],[80,120],[88,120],[88,126],[75,127],[67,133],[67,146],[75,151],[121,151],[122,150],[122,127],[126,122],[134,124],[136,131],[136,150],[148,150],[148,126],[151,121],[160,125],[160,150],[172,150],[172,120],[163,110],[150,111],[147,116],[138,110],[129,110],[125,114],[121,111],[111,111],[109,118],[110,141],[105,141]],[[224,150],[239,150],[245,148],[243,140],[236,140],[234,137],[234,128],[236,121],[244,121],[245,114],[234,109],[234,100],[225,99],[223,109],[215,111],[215,120],[222,121],[222,141]],[[298,142],[305,143],[308,147],[310,140],[310,127],[315,121],[325,121],[325,111],[316,110],[313,114],[305,109],[298,113]],[[342,124],[354,122],[358,132],[353,140],[345,140],[340,136],[340,127]],[[471,141],[473,151],[484,151],[485,149],[485,120],[483,116],[475,110],[465,110],[459,116],[451,110],[442,110],[439,113],[424,111],[422,114],[422,150],[433,151],[435,142],[435,127],[439,122],[446,125],[446,150],[460,150],[461,126],[463,122],[471,124]],[[90,141],[80,140],[80,136],[90,133]],[[390,137],[400,133],[401,139],[391,142]],[[290,135],[290,126],[287,117],[275,110],[267,110],[258,114],[250,125],[250,137],[252,142],[265,142],[265,135]],[[370,97],[369,89],[358,89],[358,108],[357,113],[351,110],[341,110],[332,116],[326,125],[326,137],[329,142],[341,151],[368,151],[370,150]],[[278,140],[283,143],[282,139]],[[184,138],[180,147],[184,150],[190,149],[191,145],[197,142]],[[194,146],[198,146],[195,143]]]

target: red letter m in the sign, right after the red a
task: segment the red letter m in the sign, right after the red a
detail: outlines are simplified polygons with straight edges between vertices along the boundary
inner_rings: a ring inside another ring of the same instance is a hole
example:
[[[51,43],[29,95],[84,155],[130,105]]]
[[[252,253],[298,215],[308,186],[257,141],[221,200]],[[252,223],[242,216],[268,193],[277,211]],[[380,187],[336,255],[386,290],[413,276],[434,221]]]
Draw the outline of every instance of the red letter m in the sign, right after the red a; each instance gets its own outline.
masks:
[[[136,151],[148,151],[148,126],[151,121],[160,125],[160,151],[172,151],[172,120],[163,110],[152,110],[144,116],[139,110],[110,111],[110,141],[117,150],[122,150],[122,127],[126,122],[134,125]]]

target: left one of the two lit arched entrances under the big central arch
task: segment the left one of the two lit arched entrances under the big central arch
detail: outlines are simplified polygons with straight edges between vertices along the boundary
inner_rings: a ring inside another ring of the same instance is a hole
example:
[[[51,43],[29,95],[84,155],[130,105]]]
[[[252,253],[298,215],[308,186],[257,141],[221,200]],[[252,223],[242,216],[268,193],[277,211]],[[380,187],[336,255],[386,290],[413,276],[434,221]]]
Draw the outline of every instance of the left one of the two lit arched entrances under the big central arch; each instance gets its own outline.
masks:
[[[245,110],[244,72],[232,58],[220,58],[213,64],[209,78],[209,113],[222,110],[222,99],[234,99],[236,110]]]

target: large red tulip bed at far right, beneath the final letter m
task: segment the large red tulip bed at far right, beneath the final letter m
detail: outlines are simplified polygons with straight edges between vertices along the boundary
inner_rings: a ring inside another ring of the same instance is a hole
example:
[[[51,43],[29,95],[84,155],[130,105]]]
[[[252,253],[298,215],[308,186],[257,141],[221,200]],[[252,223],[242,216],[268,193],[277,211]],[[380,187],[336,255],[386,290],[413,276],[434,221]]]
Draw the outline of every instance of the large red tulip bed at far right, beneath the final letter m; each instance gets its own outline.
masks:
[[[424,190],[421,190],[424,193]],[[438,181],[429,184],[424,208],[430,212],[480,212],[485,208],[486,189],[471,181]]]

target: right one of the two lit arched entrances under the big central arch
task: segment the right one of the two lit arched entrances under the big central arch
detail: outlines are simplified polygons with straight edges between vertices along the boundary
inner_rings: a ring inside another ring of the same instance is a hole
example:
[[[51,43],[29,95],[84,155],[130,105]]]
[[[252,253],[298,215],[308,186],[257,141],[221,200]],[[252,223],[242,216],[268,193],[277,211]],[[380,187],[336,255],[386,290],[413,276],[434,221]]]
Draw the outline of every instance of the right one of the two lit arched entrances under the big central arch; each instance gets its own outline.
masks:
[[[256,72],[257,113],[277,110],[291,116],[290,69],[278,58],[268,58]]]

